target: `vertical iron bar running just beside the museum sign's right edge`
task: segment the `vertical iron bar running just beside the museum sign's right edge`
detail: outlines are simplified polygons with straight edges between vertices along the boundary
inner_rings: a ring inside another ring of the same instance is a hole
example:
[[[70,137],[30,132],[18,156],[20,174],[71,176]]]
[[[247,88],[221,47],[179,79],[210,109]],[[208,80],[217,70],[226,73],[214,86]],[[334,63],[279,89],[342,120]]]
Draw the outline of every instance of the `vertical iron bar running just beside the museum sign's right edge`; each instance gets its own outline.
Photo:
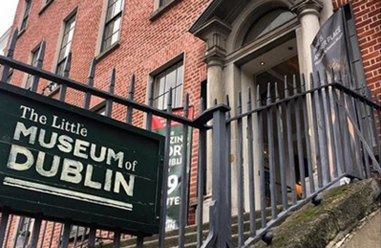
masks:
[[[169,89],[167,113],[172,112],[172,87]],[[165,129],[165,145],[164,145],[164,163],[163,163],[163,189],[162,189],[162,208],[160,213],[160,233],[159,233],[159,248],[164,247],[165,239],[165,220],[166,220],[166,202],[168,197],[168,167],[169,167],[169,152],[170,152],[170,137],[171,137],[171,120],[166,119]]]

